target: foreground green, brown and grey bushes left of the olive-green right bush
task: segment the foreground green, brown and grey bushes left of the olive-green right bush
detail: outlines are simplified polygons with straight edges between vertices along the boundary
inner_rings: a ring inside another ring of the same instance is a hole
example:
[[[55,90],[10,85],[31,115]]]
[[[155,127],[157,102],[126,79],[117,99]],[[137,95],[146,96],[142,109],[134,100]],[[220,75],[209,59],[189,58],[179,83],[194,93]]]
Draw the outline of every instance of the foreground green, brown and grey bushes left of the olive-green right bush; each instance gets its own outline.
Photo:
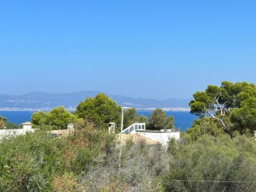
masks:
[[[147,149],[143,142],[130,141],[119,161],[115,135],[86,124],[75,124],[68,137],[36,131],[4,139],[0,191],[163,190],[161,176],[169,164],[161,148]]]

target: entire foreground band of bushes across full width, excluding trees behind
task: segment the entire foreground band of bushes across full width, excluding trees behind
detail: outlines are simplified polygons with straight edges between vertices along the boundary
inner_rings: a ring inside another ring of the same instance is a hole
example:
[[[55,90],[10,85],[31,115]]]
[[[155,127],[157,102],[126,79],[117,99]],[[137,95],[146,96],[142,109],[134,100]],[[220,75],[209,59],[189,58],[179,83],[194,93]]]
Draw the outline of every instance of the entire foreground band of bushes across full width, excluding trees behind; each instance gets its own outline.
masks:
[[[38,130],[5,139],[0,191],[254,191],[255,140],[189,134],[168,150],[128,140],[121,159],[116,136],[83,120],[68,137]]]

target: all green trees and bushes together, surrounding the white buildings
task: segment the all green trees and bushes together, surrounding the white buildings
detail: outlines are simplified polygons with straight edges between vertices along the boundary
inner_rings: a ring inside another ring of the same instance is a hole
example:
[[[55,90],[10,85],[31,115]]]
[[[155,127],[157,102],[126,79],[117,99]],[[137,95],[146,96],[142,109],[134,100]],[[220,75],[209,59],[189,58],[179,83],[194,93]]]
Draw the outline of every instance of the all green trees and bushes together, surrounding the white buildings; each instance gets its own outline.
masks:
[[[72,117],[75,131],[53,138],[38,129],[4,139],[0,191],[255,191],[255,85],[209,85],[190,106],[198,119],[180,141],[171,139],[166,149],[128,140],[121,158],[115,134],[106,129],[120,120],[121,110],[106,95],[87,98],[74,114],[56,110],[59,120]],[[47,124],[46,116],[34,120]],[[58,122],[53,116],[50,124]],[[134,109],[124,113],[125,124],[138,121],[146,118]],[[170,129],[173,121],[155,110],[148,127]]]

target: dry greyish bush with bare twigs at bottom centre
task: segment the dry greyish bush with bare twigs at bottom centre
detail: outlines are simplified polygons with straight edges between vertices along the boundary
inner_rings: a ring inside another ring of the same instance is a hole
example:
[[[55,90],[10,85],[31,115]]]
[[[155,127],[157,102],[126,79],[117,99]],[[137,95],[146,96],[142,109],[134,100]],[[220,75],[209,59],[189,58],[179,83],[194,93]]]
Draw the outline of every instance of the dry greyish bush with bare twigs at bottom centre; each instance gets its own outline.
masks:
[[[128,142],[122,161],[118,151],[82,177],[86,191],[164,191],[161,176],[169,171],[169,156],[161,146]]]

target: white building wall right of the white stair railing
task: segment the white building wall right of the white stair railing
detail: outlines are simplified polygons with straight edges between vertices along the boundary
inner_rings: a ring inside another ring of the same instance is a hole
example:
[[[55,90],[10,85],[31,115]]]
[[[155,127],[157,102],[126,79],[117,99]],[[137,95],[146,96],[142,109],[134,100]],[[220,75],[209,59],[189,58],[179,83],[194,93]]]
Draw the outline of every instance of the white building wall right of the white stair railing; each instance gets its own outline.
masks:
[[[136,132],[136,134],[159,142],[162,146],[167,146],[167,142],[169,142],[171,138],[175,138],[176,140],[180,139],[180,132]]]

